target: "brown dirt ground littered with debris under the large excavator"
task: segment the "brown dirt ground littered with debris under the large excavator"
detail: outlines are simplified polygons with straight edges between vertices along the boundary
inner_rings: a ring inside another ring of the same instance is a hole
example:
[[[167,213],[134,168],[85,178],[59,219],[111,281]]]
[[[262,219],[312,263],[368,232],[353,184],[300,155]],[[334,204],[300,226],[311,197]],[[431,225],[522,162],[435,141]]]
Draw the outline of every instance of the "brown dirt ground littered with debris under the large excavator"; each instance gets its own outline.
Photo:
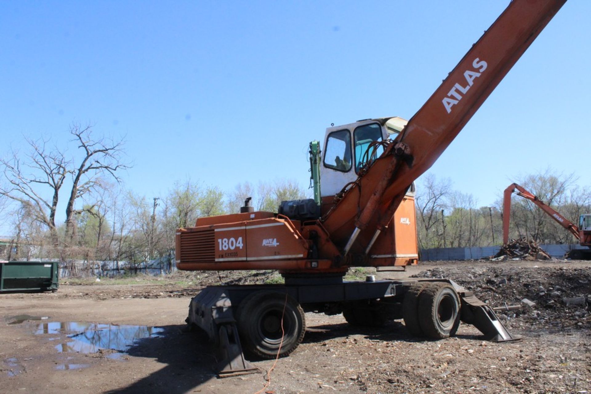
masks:
[[[56,293],[1,294],[0,393],[591,392],[589,309],[563,301],[591,298],[590,262],[430,262],[404,273],[380,272],[382,278],[450,278],[493,307],[523,298],[535,305],[498,313],[522,337],[509,343],[483,341],[465,324],[456,337],[430,341],[409,336],[401,321],[364,329],[350,327],[342,315],[308,313],[306,336],[293,354],[275,366],[255,361],[261,373],[226,379],[212,370],[204,334],[181,333],[190,297],[202,285],[262,283],[272,275],[196,275],[193,281],[62,282]],[[162,331],[129,348],[115,346],[126,353],[102,342],[103,349],[85,353],[72,341],[80,330],[97,328],[87,323],[111,324],[109,340],[157,331],[126,325]]]

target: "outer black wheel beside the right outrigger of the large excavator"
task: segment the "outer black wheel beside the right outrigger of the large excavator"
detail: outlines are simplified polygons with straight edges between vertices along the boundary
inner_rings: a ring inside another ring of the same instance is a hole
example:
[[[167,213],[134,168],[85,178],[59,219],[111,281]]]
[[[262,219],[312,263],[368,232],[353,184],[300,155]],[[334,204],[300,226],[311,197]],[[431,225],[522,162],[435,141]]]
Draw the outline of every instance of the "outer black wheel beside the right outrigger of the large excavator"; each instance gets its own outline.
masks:
[[[418,321],[433,339],[453,336],[460,324],[460,298],[452,285],[431,283],[418,297]]]

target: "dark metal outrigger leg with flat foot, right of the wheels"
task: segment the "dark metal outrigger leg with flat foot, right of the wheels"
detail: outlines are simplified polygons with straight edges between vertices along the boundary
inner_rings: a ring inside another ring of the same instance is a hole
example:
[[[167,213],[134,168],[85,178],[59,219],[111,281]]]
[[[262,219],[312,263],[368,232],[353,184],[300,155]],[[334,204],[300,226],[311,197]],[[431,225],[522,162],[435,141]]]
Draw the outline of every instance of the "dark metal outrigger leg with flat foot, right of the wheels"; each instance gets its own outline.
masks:
[[[480,301],[472,292],[460,293],[462,299],[462,321],[472,324],[486,339],[494,342],[521,340],[512,336],[489,305]]]

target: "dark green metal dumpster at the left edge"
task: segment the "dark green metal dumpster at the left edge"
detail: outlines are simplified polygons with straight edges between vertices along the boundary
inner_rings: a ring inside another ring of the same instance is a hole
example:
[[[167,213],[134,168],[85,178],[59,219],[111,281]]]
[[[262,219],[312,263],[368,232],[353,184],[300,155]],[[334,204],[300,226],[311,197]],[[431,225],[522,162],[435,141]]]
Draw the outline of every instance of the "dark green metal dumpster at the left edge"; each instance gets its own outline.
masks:
[[[56,291],[57,262],[0,261],[0,292]]]

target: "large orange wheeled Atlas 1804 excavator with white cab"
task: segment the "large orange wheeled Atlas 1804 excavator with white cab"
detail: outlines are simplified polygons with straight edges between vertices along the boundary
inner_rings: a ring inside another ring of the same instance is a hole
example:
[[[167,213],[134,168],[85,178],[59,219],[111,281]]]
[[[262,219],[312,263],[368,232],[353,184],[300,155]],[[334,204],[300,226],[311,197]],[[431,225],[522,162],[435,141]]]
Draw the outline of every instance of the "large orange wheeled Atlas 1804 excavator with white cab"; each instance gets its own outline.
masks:
[[[314,199],[278,212],[201,217],[178,229],[185,270],[277,269],[281,285],[208,286],[187,323],[216,341],[220,376],[255,370],[242,349],[271,359],[294,351],[304,312],[342,313],[352,325],[404,320],[411,334],[446,338],[460,320],[486,337],[514,340],[492,308],[446,279],[344,281],[351,267],[416,264],[414,181],[425,172],[566,0],[514,0],[410,119],[374,118],[326,130],[310,144]],[[322,184],[321,184],[322,181]]]

